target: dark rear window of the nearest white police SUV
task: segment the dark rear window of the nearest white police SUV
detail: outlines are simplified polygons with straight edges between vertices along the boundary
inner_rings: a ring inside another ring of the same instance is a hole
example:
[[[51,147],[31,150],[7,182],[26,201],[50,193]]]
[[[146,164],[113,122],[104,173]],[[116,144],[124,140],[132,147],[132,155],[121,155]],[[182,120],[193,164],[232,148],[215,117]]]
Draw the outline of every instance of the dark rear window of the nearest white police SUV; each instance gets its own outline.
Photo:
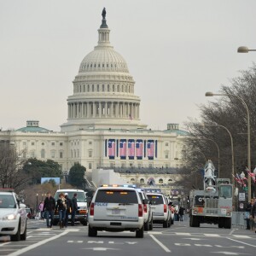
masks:
[[[101,189],[96,195],[96,202],[108,202],[119,204],[137,204],[137,193],[133,190]]]

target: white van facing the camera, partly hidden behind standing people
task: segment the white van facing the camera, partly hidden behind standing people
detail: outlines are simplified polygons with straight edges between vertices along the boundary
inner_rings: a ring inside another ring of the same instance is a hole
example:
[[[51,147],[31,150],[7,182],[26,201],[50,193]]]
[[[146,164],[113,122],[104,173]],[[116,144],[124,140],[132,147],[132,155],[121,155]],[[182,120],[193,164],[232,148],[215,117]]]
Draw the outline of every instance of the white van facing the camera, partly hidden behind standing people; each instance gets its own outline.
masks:
[[[86,192],[82,189],[58,189],[55,193],[55,201],[59,199],[60,193],[67,193],[69,199],[72,200],[73,195],[77,194],[78,201],[78,212],[75,215],[75,221],[79,221],[84,226],[87,226],[88,222],[88,208],[86,200]],[[68,215],[68,221],[71,221],[71,213]],[[59,223],[59,215],[55,214],[53,224],[56,225]]]

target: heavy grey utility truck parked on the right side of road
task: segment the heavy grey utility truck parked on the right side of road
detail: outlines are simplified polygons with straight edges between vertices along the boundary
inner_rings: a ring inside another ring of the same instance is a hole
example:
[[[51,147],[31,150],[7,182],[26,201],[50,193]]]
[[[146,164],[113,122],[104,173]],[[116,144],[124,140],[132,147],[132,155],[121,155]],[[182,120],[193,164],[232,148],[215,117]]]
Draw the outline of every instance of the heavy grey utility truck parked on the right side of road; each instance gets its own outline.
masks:
[[[218,224],[218,228],[230,229],[232,218],[233,188],[230,178],[217,178],[212,160],[204,167],[203,190],[189,192],[189,226]]]

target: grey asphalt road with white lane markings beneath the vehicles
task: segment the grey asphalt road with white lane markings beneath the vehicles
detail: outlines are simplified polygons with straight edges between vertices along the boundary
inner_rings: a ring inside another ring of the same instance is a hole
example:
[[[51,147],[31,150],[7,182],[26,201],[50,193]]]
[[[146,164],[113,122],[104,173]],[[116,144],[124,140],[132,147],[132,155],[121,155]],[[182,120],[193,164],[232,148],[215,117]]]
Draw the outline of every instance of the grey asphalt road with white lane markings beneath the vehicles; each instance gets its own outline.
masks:
[[[87,236],[83,225],[46,229],[45,223],[30,220],[26,241],[9,241],[0,237],[0,255],[255,255],[256,234],[250,230],[232,228],[218,229],[217,225],[202,224],[190,228],[189,222],[175,222],[171,228],[163,229],[154,224],[154,230],[136,238],[131,232],[98,232],[96,237]]]

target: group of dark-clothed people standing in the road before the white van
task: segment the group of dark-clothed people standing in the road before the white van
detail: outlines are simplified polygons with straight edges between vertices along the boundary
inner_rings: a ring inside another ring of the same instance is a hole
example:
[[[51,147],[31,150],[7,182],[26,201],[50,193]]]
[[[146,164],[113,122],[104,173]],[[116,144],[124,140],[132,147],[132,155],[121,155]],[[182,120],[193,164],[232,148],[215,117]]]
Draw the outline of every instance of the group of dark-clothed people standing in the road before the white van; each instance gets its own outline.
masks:
[[[48,228],[52,227],[54,214],[58,212],[59,214],[59,224],[60,229],[67,227],[68,215],[71,213],[71,224],[75,223],[75,214],[78,211],[78,200],[77,194],[73,194],[73,198],[70,199],[67,193],[60,193],[59,199],[55,201],[55,198],[47,193],[44,200],[44,218],[46,219],[46,225]],[[40,211],[41,212],[41,211]],[[41,215],[42,216],[42,215]],[[50,220],[49,220],[50,218]]]

